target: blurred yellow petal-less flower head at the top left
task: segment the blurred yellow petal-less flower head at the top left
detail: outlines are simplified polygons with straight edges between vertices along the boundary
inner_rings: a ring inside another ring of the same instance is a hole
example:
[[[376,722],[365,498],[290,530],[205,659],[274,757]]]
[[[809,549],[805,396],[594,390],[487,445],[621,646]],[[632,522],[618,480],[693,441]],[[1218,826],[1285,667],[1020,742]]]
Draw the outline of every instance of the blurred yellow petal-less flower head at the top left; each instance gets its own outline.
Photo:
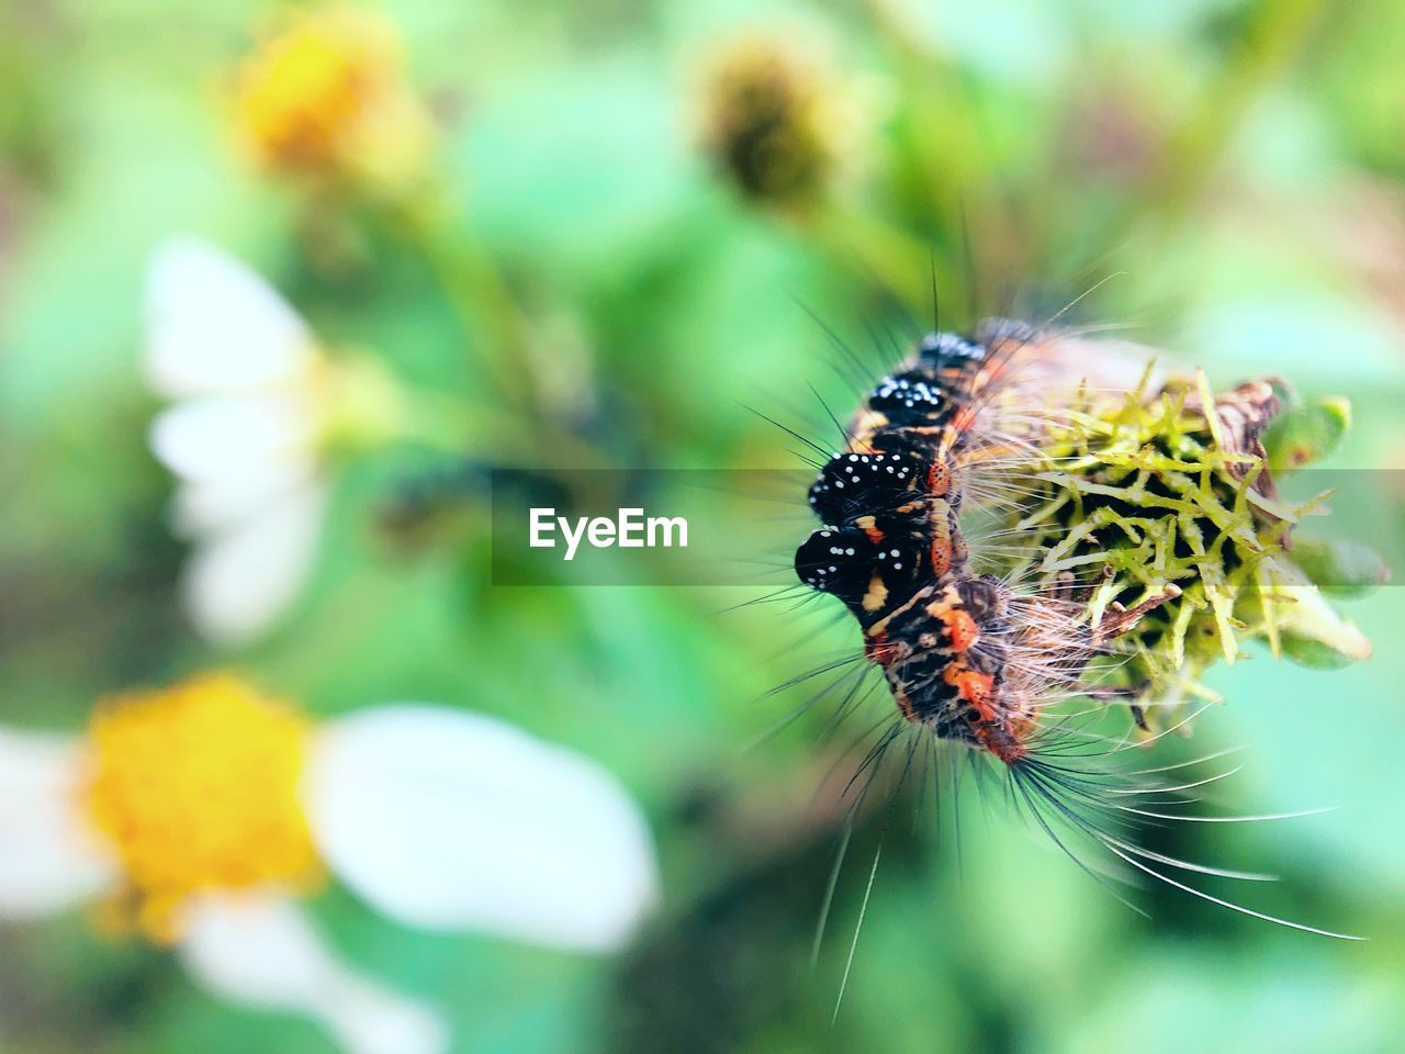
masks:
[[[423,176],[434,145],[392,24],[343,7],[312,11],[250,56],[237,124],[268,169],[396,194]]]

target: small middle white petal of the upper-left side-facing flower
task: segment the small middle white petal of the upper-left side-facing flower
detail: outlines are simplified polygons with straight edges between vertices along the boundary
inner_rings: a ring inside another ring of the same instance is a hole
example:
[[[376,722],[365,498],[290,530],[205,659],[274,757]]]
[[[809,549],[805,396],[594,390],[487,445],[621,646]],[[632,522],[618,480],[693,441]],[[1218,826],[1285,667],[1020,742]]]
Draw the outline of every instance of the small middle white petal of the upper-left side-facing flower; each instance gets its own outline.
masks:
[[[292,393],[208,395],[163,410],[152,420],[156,458],[187,479],[218,482],[278,462],[308,462],[318,417]]]

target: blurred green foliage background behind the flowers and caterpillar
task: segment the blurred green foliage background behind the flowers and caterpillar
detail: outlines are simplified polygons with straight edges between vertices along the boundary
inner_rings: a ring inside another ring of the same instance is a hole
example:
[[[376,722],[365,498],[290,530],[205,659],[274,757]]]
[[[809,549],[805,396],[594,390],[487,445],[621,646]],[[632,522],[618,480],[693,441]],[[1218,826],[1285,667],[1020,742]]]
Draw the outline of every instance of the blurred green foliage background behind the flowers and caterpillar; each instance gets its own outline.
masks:
[[[958,853],[950,824],[939,838],[929,808],[915,828],[902,798],[832,1024],[881,816],[854,836],[811,970],[839,840],[823,707],[743,746],[806,696],[767,689],[853,648],[847,627],[776,606],[717,614],[783,571],[754,589],[495,589],[481,497],[452,497],[455,516],[409,541],[385,528],[400,489],[445,462],[403,448],[341,474],[285,628],[211,655],[178,610],[183,554],[136,363],[143,259],[195,232],[257,266],[329,343],[469,415],[506,406],[603,464],[791,467],[791,441],[747,406],[819,436],[809,385],[840,412],[857,396],[799,305],[878,364],[891,356],[867,326],[896,306],[926,318],[929,267],[953,323],[1047,316],[1114,275],[1071,318],[1125,325],[1217,385],[1274,372],[1346,396],[1354,423],[1333,464],[1394,468],[1405,7],[382,7],[441,125],[451,204],[431,225],[240,160],[232,70],[281,6],[0,7],[0,720],[77,728],[107,691],[233,661],[315,714],[433,700],[601,759],[645,804],[665,871],[665,909],[621,960],[409,933],[340,892],[318,904],[348,957],[452,1016],[457,1050],[1398,1050],[1401,590],[1352,609],[1370,662],[1318,672],[1256,653],[1217,669],[1228,705],[1161,748],[1169,762],[1249,745],[1220,784],[1227,812],[1340,807],[1161,832],[1154,847],[1281,873],[1255,906],[1370,943],[1169,890],[1146,891],[1142,919],[1000,801],[964,795]],[[700,56],[756,27],[828,37],[835,69],[878,87],[853,170],[799,212],[743,200],[695,148]],[[535,354],[486,339],[472,305],[465,327],[444,275],[464,246],[493,261]],[[894,325],[906,340],[920,323]],[[532,378],[530,408],[496,388],[503,375]],[[542,438],[535,461],[555,451]],[[490,441],[464,454],[507,458]],[[1339,502],[1339,530],[1368,520],[1398,537],[1399,500]],[[69,918],[0,933],[0,1048],[329,1047]]]

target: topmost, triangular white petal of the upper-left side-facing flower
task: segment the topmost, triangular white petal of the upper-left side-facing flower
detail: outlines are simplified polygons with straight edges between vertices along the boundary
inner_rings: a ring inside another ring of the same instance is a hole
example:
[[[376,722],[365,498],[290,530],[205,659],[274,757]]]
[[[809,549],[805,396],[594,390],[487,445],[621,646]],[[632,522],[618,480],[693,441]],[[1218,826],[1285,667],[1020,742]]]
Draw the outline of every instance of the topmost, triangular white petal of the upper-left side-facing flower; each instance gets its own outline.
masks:
[[[278,384],[315,358],[312,334],[282,297],[195,239],[152,253],[146,316],[148,379],[167,396]]]

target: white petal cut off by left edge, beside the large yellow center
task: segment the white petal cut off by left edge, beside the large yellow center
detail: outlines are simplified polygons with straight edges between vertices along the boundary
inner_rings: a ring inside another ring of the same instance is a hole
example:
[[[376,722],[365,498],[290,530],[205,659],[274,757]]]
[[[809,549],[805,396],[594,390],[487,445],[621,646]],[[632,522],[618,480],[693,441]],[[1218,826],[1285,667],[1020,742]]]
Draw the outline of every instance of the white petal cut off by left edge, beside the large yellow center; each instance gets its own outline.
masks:
[[[0,729],[0,916],[51,915],[114,881],[79,809],[81,748]]]

